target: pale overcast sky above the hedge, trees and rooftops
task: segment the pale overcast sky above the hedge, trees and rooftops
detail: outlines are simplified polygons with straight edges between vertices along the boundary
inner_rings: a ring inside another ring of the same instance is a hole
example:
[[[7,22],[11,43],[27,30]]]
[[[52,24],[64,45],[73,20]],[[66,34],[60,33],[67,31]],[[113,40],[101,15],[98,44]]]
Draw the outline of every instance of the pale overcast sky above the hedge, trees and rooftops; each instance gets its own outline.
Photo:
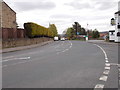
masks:
[[[26,22],[55,24],[61,34],[74,22],[88,29],[109,31],[119,0],[4,0],[15,12],[20,28]],[[87,26],[88,24],[88,26]]]

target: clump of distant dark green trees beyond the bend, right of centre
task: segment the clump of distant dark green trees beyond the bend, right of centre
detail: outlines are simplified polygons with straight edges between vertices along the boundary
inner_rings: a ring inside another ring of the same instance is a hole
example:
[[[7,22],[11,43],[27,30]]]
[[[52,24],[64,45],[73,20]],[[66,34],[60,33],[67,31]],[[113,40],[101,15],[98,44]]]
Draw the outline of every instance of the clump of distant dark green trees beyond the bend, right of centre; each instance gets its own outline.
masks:
[[[81,27],[79,23],[76,23],[76,25],[73,25],[73,27],[68,28],[66,32],[66,36],[68,37],[68,39],[75,39],[75,40],[84,39],[85,40],[85,37],[82,37],[82,35],[86,36],[87,33],[89,35],[89,38],[91,39],[97,39],[100,37],[100,33],[98,32],[97,29],[86,31],[85,28]],[[79,37],[79,35],[81,35],[81,37]]]

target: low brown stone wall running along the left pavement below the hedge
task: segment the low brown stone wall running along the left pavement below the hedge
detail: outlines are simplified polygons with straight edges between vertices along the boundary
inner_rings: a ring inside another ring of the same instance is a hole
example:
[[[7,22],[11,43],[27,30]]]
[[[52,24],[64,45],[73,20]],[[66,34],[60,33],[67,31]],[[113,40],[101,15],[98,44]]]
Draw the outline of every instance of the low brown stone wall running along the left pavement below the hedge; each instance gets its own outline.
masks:
[[[24,38],[24,39],[10,39],[2,41],[2,48],[11,48],[11,47],[18,47],[18,46],[27,46],[33,44],[39,44],[45,41],[51,41],[52,38]]]

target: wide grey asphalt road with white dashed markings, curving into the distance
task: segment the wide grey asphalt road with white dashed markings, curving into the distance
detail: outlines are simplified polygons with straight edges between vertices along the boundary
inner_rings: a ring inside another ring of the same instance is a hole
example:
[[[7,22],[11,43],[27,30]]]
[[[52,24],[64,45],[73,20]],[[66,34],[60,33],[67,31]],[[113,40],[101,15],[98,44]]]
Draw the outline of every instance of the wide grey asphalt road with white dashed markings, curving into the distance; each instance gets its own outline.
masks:
[[[3,88],[118,88],[117,44],[56,41],[3,53]],[[111,89],[117,90],[117,89]]]

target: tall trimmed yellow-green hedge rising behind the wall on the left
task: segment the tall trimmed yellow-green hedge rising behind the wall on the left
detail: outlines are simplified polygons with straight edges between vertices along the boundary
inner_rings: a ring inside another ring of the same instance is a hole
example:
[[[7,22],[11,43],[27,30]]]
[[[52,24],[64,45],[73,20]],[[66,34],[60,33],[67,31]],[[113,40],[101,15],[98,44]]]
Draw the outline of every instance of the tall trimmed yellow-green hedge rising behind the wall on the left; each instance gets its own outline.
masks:
[[[28,22],[24,23],[24,28],[26,30],[26,35],[30,38],[35,36],[57,36],[57,28],[54,24],[51,24],[49,28],[46,28],[36,23]]]

